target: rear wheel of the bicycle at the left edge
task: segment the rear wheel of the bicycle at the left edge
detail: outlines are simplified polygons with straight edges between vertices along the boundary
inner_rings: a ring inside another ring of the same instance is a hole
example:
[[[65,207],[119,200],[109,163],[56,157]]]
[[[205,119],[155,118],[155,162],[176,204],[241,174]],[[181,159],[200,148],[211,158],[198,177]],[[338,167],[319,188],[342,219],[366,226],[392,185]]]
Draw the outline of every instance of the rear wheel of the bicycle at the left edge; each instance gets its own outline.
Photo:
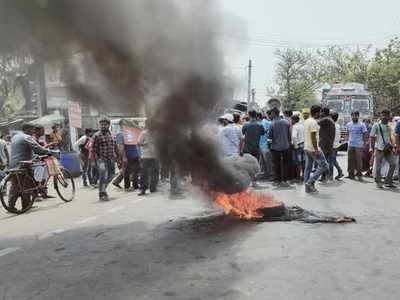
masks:
[[[30,210],[36,195],[36,182],[25,173],[8,174],[0,186],[1,203],[13,214],[19,215]]]

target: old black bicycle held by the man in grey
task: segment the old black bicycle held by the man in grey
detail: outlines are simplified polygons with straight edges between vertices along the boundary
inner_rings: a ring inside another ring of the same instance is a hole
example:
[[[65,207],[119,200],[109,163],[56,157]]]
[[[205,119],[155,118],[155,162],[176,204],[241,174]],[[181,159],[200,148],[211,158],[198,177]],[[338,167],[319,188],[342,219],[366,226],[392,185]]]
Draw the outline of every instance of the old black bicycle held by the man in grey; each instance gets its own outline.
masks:
[[[3,207],[14,214],[23,214],[29,211],[35,200],[47,196],[47,187],[53,177],[54,189],[64,202],[71,202],[75,197],[75,182],[68,170],[57,167],[55,174],[38,182],[34,177],[37,166],[46,168],[48,159],[56,159],[48,155],[39,156],[35,161],[21,161],[19,168],[11,169],[0,183],[0,200]],[[69,193],[67,193],[69,191]]]

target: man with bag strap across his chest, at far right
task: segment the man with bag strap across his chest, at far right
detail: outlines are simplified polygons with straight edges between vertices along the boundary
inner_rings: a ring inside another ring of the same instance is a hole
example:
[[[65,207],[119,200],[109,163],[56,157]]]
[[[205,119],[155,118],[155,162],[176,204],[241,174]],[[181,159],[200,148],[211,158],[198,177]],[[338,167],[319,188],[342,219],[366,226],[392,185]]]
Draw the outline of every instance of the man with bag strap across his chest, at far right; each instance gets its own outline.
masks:
[[[396,161],[394,159],[393,150],[394,142],[391,137],[391,130],[388,125],[390,120],[390,111],[383,110],[381,112],[381,121],[375,123],[371,130],[371,151],[375,151],[375,182],[379,188],[383,186],[387,188],[395,188],[393,184],[393,174],[396,169]],[[389,171],[386,175],[384,185],[382,184],[382,167],[383,161],[389,164]]]

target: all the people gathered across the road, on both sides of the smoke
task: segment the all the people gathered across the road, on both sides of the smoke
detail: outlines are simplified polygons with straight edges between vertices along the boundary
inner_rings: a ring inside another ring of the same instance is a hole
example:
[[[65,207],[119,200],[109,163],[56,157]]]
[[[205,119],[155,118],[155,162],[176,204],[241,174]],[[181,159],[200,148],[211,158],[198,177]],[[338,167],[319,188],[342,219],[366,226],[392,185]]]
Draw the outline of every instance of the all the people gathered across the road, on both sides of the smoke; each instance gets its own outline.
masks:
[[[388,110],[382,110],[374,121],[361,120],[358,111],[353,111],[351,117],[345,124],[347,178],[373,177],[379,188],[396,188],[400,122]],[[318,181],[341,180],[345,176],[337,159],[343,138],[338,119],[336,112],[318,105],[302,113],[281,113],[273,108],[265,113],[225,114],[218,119],[220,154],[230,160],[246,155],[259,164],[260,172],[252,178],[254,186],[257,180],[270,180],[277,187],[304,184],[307,193],[316,193]],[[98,188],[99,200],[108,201],[110,183],[128,192],[138,190],[138,195],[144,196],[156,192],[160,180],[169,180],[171,196],[182,196],[180,172],[174,164],[157,159],[149,122],[137,143],[127,143],[124,122],[120,121],[121,130],[114,135],[110,120],[103,118],[98,130],[85,130],[76,142],[83,185]],[[34,154],[51,155],[59,149],[63,137],[57,126],[46,139],[44,136],[43,126],[24,124],[11,142],[0,139],[0,170],[16,168],[20,161],[32,160]]]

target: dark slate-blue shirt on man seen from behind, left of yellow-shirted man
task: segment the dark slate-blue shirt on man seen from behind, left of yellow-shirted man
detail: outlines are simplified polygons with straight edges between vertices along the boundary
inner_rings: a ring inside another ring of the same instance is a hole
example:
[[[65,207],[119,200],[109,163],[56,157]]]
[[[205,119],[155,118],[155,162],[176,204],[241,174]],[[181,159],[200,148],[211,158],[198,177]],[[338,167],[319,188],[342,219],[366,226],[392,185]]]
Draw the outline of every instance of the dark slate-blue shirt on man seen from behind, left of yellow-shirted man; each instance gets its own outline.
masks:
[[[271,141],[271,150],[288,150],[290,148],[290,141],[292,139],[290,133],[290,123],[286,119],[274,119],[269,129],[268,138]]]

